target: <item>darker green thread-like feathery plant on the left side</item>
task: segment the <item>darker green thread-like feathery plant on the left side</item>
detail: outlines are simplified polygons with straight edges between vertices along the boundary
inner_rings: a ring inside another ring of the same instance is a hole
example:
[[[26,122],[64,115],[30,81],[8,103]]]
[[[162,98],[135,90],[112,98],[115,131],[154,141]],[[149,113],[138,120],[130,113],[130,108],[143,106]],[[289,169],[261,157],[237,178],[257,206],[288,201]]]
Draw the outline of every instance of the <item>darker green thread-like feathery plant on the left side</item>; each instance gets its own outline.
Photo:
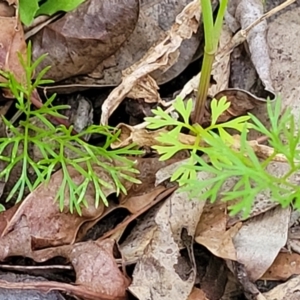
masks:
[[[42,79],[50,67],[42,70],[33,82],[31,80],[34,70],[44,57],[45,55],[32,63],[30,44],[26,62],[22,56],[19,56],[25,70],[26,78],[23,84],[18,82],[12,73],[0,71],[0,76],[6,80],[5,83],[0,84],[0,87],[12,92],[16,99],[16,108],[24,116],[17,126],[2,117],[10,136],[0,138],[0,161],[6,165],[0,172],[0,178],[7,181],[14,167],[17,164],[21,165],[21,175],[10,191],[7,201],[16,194],[16,201],[21,201],[26,188],[33,191],[39,184],[49,182],[52,172],[60,167],[63,179],[56,195],[60,210],[64,208],[65,192],[68,191],[70,212],[73,213],[75,208],[80,214],[82,205],[87,206],[85,193],[91,183],[95,188],[95,206],[97,207],[100,201],[108,205],[103,188],[115,188],[119,194],[126,193],[124,181],[139,183],[139,180],[134,177],[134,174],[138,173],[134,167],[135,163],[127,156],[139,155],[142,151],[135,150],[134,145],[111,150],[110,145],[118,139],[120,132],[109,126],[92,125],[75,134],[72,126],[69,128],[65,125],[54,126],[48,120],[48,116],[65,118],[58,111],[69,108],[67,105],[53,105],[56,95],[52,95],[42,107],[34,109],[31,105],[33,92],[38,85],[52,82]],[[34,119],[42,126],[37,126],[33,122]],[[101,134],[105,138],[103,145],[98,147],[85,142],[83,137],[91,134]],[[32,152],[30,147],[38,150],[41,155],[40,160],[36,161],[30,156]],[[10,153],[6,154],[8,149]],[[73,167],[83,176],[84,180],[80,184],[73,181],[68,166]],[[114,187],[99,178],[94,172],[94,166],[103,169],[111,177]],[[29,170],[35,174],[36,179],[33,182],[30,180]]]

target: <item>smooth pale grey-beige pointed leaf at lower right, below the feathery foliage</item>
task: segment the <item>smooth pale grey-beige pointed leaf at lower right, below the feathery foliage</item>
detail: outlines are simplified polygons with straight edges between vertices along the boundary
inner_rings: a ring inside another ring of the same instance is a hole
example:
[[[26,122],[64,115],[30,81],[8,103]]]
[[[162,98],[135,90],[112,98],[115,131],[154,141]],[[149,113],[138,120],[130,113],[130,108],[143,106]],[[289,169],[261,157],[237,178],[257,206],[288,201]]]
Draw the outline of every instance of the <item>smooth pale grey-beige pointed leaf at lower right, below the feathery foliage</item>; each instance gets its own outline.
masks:
[[[289,220],[290,209],[277,207],[245,222],[234,237],[237,261],[251,280],[267,271],[286,244]]]

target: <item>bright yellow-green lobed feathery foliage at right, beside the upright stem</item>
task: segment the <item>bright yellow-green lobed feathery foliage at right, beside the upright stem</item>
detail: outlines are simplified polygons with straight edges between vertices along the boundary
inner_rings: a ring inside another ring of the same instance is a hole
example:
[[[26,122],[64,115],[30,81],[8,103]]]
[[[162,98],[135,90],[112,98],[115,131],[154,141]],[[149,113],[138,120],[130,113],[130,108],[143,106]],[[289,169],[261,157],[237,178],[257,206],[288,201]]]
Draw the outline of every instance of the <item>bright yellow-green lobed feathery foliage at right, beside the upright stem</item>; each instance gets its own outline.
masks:
[[[271,199],[283,207],[293,203],[295,208],[300,209],[300,186],[297,181],[291,180],[300,169],[300,122],[295,122],[290,110],[286,110],[281,116],[280,99],[277,98],[275,103],[273,107],[270,101],[267,102],[270,129],[252,114],[217,124],[219,116],[230,106],[225,98],[212,100],[211,125],[207,128],[198,124],[190,125],[192,100],[184,104],[180,98],[176,99],[174,108],[182,121],[174,120],[161,108],[153,110],[155,117],[146,118],[146,121],[149,129],[172,127],[171,131],[161,133],[157,138],[161,145],[153,146],[161,155],[161,160],[168,159],[181,150],[190,151],[188,163],[179,167],[171,180],[178,181],[184,190],[189,191],[191,197],[201,194],[202,199],[210,199],[211,202],[218,197],[223,201],[235,201],[231,206],[231,214],[242,212],[246,217],[255,197],[268,190]],[[240,132],[239,149],[236,149],[234,138],[226,131],[229,128]],[[269,145],[273,148],[269,157],[257,157],[247,141],[249,128],[268,138]],[[194,144],[184,144],[178,139],[182,129],[187,129],[195,137]],[[205,153],[208,159],[205,160],[199,153]],[[278,154],[285,157],[289,165],[289,169],[280,177],[266,170]],[[199,181],[197,172],[208,172],[212,176]],[[224,183],[231,178],[236,178],[236,183],[229,191],[223,191]],[[236,200],[239,201],[236,203]]]

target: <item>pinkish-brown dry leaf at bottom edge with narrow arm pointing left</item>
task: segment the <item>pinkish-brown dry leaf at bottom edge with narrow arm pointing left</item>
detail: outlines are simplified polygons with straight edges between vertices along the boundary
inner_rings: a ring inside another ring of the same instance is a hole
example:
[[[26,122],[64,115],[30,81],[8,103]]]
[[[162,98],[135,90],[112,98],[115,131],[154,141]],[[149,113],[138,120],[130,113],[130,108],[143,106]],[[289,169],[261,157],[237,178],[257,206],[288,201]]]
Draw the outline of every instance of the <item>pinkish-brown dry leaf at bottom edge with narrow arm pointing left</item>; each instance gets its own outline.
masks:
[[[56,256],[68,259],[76,273],[75,284],[81,288],[81,294],[71,290],[75,295],[83,296],[90,291],[94,294],[92,299],[125,299],[129,279],[118,268],[113,256],[114,244],[105,240],[58,246],[35,251],[32,258],[37,262]]]

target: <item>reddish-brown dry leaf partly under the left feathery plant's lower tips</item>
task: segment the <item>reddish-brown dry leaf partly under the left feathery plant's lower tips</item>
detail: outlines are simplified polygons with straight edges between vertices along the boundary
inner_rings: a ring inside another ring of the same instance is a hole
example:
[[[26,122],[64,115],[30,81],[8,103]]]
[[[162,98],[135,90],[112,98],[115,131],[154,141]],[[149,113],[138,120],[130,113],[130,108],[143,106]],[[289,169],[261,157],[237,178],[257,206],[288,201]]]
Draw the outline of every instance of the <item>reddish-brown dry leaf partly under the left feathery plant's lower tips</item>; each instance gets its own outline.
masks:
[[[98,167],[94,167],[94,171],[103,180],[114,186],[111,178],[104,171]],[[81,175],[75,169],[69,168],[69,174],[74,182],[79,183],[82,181]],[[81,216],[69,212],[69,198],[67,193],[65,194],[64,211],[60,212],[59,205],[57,201],[54,201],[54,198],[61,185],[62,176],[61,171],[56,172],[52,175],[48,185],[40,185],[25,198],[2,231],[2,238],[14,233],[17,230],[16,225],[20,219],[25,217],[33,249],[70,244],[75,241],[77,232],[83,223],[96,219],[103,213],[104,204],[102,202],[98,208],[95,208],[95,190],[92,185],[86,191],[88,207],[82,208]],[[115,193],[115,190],[103,189],[103,192],[108,196],[111,193]],[[5,247],[3,243],[1,245]]]

